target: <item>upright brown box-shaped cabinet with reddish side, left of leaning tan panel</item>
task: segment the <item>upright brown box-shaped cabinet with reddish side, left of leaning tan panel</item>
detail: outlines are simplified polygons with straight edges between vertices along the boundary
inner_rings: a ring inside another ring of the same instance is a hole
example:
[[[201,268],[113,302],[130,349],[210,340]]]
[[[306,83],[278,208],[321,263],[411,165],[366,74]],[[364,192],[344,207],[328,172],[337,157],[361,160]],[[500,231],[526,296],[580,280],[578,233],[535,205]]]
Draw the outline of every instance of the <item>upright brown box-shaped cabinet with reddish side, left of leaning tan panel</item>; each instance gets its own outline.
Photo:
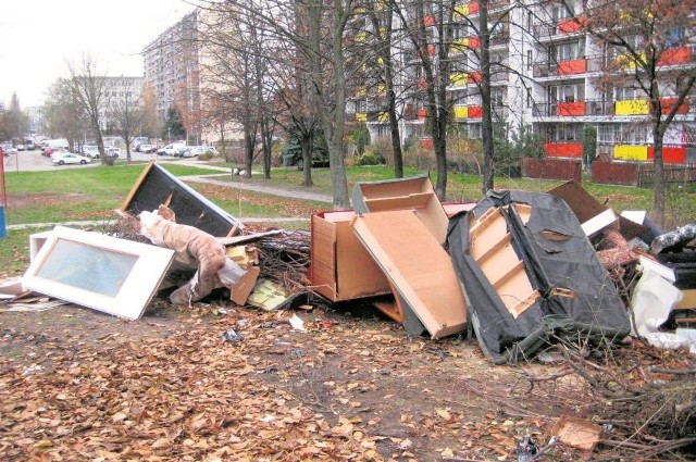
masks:
[[[389,283],[356,237],[352,211],[321,212],[311,218],[309,278],[331,301],[390,294]]]

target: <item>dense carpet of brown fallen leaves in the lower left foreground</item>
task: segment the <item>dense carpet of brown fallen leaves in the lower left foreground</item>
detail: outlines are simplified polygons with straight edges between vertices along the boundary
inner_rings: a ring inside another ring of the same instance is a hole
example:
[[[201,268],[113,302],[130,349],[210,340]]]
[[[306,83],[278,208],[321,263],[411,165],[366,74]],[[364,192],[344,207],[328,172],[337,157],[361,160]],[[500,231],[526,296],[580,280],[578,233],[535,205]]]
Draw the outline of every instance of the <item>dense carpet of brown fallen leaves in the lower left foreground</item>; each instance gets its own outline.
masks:
[[[86,344],[53,353],[50,371],[44,364],[32,375],[0,360],[0,452],[48,461],[377,458],[360,419],[332,425],[256,379],[246,346],[220,342],[223,323],[105,348]]]

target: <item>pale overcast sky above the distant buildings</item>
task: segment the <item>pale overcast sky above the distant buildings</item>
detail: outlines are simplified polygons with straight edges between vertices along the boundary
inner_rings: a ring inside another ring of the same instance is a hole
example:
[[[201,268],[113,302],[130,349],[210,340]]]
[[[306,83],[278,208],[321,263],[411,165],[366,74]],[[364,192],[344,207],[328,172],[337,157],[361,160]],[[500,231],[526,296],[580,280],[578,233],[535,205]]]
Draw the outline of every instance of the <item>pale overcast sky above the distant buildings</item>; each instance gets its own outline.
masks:
[[[190,0],[0,0],[0,101],[41,105],[67,62],[89,54],[109,76],[141,76],[142,48],[185,14]]]

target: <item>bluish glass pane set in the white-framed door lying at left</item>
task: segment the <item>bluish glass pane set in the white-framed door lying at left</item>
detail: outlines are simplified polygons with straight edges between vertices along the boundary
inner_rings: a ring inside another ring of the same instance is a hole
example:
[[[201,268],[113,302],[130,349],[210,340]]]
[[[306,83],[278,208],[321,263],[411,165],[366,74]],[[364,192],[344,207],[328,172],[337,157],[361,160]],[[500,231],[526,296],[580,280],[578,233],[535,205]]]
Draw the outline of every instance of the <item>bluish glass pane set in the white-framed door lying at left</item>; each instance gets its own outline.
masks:
[[[58,239],[38,277],[115,298],[138,257]]]

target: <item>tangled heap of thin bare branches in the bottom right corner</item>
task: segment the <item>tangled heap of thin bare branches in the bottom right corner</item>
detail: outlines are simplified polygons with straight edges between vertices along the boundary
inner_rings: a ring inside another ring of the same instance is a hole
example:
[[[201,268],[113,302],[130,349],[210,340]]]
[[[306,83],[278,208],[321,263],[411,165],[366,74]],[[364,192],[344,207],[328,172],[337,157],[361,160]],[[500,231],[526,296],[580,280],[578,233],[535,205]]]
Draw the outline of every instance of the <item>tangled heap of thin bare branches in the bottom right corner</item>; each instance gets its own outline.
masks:
[[[661,351],[634,339],[630,347],[593,347],[558,339],[563,373],[530,377],[536,399],[557,394],[558,380],[579,377],[582,401],[573,408],[602,425],[599,459],[694,460],[696,361],[684,351]],[[577,398],[576,398],[577,399]],[[568,404],[568,403],[567,403]],[[580,410],[580,411],[579,411]]]

